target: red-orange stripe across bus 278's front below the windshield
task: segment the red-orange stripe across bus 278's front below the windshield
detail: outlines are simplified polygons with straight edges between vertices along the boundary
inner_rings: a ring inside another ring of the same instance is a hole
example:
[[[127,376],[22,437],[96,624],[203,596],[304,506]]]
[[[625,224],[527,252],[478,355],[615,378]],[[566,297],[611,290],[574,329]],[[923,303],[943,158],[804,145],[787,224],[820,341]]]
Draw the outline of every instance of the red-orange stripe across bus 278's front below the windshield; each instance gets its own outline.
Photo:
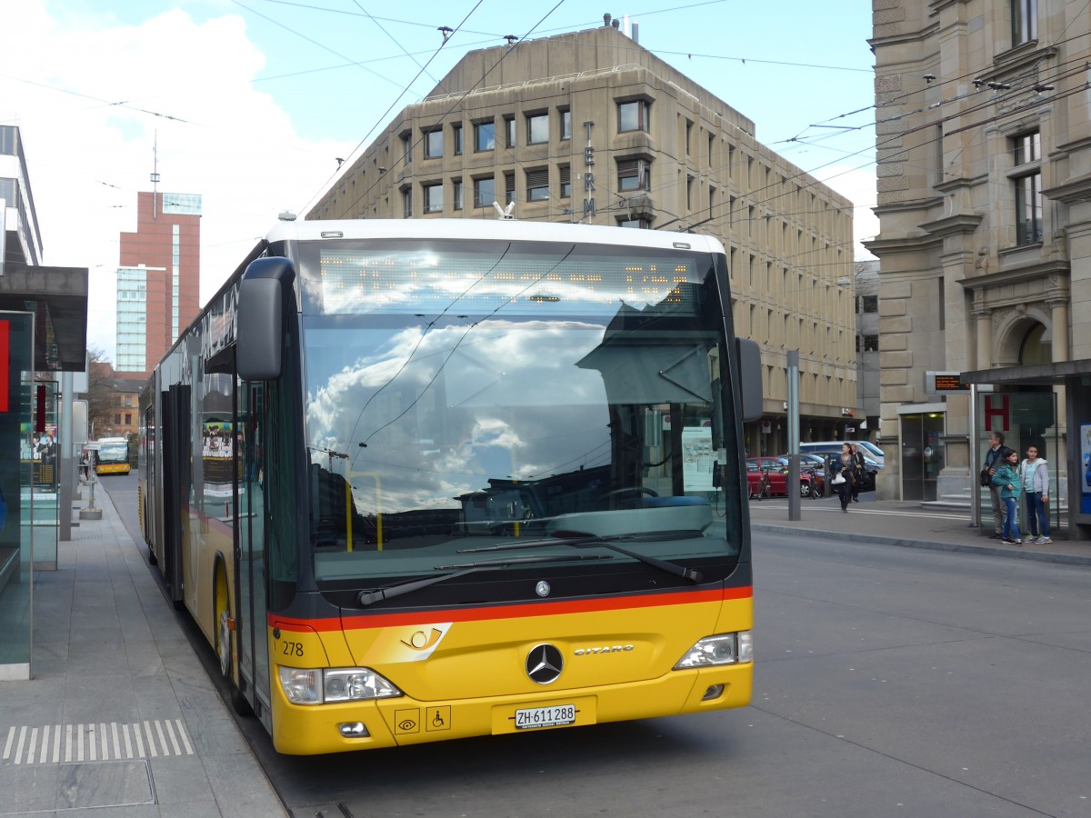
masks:
[[[328,617],[322,619],[296,619],[277,614],[268,614],[269,627],[281,630],[340,630],[357,628],[394,627],[398,625],[417,625],[433,622],[437,616],[451,622],[483,622],[488,619],[514,619],[524,616],[555,616],[572,613],[591,613],[595,611],[624,611],[638,608],[661,608],[667,605],[688,605],[697,602],[720,602],[724,600],[750,599],[754,588],[716,588],[700,591],[676,591],[639,597],[599,598],[588,600],[565,600],[558,602],[536,602],[517,605],[496,605],[495,608],[467,608],[459,610],[428,609],[410,613],[375,613],[346,615],[343,618]]]

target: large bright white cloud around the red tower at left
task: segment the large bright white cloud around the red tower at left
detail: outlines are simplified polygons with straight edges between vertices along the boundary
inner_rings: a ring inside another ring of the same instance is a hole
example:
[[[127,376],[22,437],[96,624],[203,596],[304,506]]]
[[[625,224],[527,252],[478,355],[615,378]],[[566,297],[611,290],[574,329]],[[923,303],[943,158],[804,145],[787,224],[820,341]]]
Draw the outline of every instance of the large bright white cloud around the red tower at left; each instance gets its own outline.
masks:
[[[88,345],[112,359],[118,237],[136,229],[156,142],[158,189],[203,197],[202,302],[352,145],[301,140],[254,89],[265,58],[236,14],[175,9],[132,26],[46,9],[24,2],[5,32],[0,122],[22,131],[44,261],[89,268]]]

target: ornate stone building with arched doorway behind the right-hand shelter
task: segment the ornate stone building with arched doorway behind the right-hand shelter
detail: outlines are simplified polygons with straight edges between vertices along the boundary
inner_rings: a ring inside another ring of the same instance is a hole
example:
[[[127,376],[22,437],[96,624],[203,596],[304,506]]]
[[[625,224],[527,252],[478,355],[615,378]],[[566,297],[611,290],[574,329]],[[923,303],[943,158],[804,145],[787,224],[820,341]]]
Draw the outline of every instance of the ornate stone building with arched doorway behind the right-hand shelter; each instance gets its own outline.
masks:
[[[873,10],[879,496],[966,500],[980,455],[971,442],[985,430],[1020,452],[1044,447],[1065,495],[1055,385],[1065,381],[1048,375],[1091,358],[1087,3],[873,0]],[[930,377],[1004,368],[1045,374],[1009,377],[976,401]]]

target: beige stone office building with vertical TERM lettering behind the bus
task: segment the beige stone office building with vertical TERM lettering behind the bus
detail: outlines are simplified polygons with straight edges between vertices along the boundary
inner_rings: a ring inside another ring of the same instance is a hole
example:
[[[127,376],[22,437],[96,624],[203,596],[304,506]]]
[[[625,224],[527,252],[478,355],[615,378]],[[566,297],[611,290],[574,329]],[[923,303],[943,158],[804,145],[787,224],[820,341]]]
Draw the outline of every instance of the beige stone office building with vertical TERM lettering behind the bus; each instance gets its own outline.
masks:
[[[787,358],[803,440],[856,408],[852,204],[756,139],[754,122],[618,28],[468,53],[308,218],[496,218],[709,233],[728,250],[735,330],[762,345],[751,454],[788,448]]]

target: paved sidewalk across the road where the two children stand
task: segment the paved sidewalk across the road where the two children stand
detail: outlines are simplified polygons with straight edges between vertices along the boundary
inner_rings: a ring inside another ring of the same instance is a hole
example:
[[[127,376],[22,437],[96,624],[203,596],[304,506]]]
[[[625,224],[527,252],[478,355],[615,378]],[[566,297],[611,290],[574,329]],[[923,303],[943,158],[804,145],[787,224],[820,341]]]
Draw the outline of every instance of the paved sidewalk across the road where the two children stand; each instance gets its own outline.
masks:
[[[842,514],[837,497],[803,500],[799,520],[788,519],[787,497],[751,501],[750,509],[755,531],[1091,566],[1091,541],[1069,541],[1066,529],[1052,531],[1053,542],[1046,545],[1007,545],[988,539],[991,512],[982,536],[980,529],[970,528],[969,512],[925,509],[916,502],[862,500]]]

